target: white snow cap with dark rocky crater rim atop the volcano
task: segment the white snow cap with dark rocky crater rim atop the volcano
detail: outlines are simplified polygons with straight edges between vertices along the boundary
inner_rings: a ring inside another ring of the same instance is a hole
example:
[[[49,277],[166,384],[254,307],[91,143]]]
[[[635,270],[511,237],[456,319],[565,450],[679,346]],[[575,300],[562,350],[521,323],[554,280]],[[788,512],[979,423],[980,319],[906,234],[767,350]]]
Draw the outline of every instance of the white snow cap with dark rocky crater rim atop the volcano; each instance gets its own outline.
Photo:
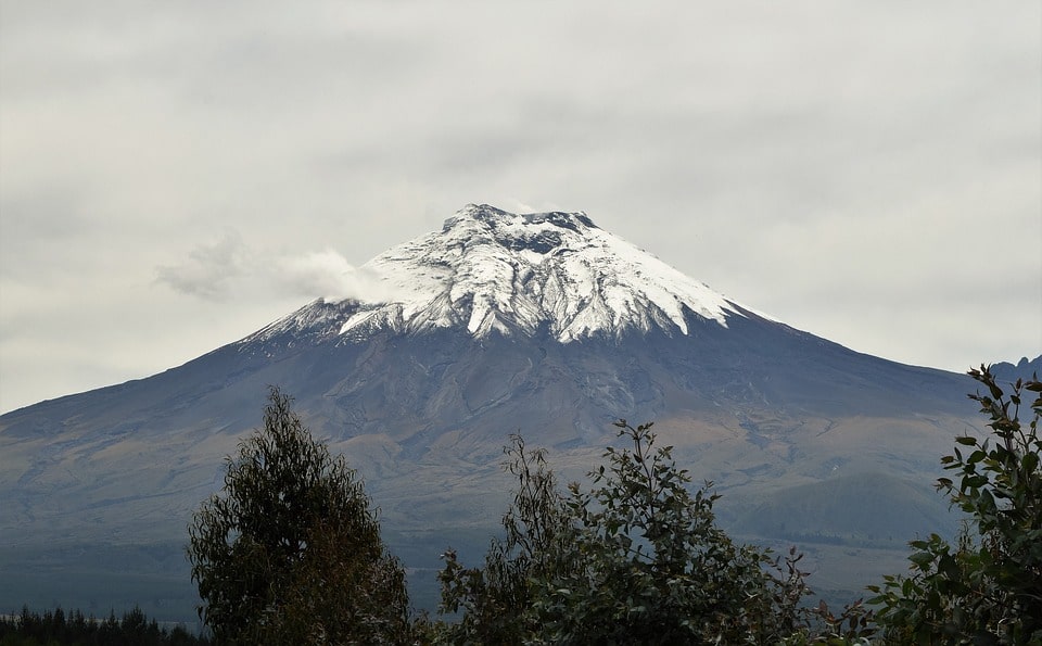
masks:
[[[585,213],[513,214],[468,205],[440,231],[364,267],[395,296],[363,303],[341,333],[391,328],[547,330],[562,342],[655,328],[688,332],[686,312],[727,325],[734,303],[594,225]]]

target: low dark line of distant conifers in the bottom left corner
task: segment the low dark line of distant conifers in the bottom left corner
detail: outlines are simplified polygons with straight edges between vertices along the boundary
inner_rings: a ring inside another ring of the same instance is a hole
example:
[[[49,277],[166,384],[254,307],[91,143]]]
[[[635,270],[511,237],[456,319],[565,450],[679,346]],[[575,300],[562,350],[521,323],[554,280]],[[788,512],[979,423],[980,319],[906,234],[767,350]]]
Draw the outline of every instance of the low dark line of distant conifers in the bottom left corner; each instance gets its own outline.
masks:
[[[115,612],[99,620],[85,616],[79,610],[65,612],[61,608],[43,613],[31,612],[23,607],[13,617],[0,617],[0,646],[37,646],[45,644],[72,644],[88,646],[189,646],[208,644],[181,626],[173,630],[160,628],[158,623],[135,608],[116,619]]]

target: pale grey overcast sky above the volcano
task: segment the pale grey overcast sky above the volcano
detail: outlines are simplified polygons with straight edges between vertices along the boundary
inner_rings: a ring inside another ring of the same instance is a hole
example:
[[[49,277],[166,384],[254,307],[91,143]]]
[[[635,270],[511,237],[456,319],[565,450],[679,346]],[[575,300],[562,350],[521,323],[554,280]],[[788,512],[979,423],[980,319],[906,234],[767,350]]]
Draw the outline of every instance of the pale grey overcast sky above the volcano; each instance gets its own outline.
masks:
[[[1037,356],[1040,7],[0,0],[0,411],[234,341],[471,202],[585,211],[861,352]]]

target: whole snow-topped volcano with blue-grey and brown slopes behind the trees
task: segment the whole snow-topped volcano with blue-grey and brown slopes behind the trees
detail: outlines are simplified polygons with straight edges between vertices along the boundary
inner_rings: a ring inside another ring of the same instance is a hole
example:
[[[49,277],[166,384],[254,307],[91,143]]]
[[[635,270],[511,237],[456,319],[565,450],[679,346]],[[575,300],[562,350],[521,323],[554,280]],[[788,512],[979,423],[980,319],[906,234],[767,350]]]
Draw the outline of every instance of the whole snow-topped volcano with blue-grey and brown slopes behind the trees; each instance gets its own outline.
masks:
[[[903,570],[907,540],[957,522],[931,483],[952,438],[979,430],[967,377],[793,329],[586,214],[469,205],[361,271],[367,297],[0,417],[0,605],[191,617],[187,523],[269,384],[363,474],[420,605],[446,545],[476,553],[496,531],[513,432],[571,480],[612,421],[655,421],[723,494],[725,528],[798,544],[818,590]]]

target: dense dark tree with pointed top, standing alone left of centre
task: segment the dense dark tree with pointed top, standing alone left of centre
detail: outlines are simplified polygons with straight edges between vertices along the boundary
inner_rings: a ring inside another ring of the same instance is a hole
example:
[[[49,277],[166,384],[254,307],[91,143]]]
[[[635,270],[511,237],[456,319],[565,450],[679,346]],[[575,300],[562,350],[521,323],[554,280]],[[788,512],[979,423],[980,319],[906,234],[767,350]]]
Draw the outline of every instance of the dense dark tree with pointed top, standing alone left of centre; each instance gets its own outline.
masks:
[[[217,643],[401,643],[408,596],[361,480],[272,388],[189,525],[200,617]]]

